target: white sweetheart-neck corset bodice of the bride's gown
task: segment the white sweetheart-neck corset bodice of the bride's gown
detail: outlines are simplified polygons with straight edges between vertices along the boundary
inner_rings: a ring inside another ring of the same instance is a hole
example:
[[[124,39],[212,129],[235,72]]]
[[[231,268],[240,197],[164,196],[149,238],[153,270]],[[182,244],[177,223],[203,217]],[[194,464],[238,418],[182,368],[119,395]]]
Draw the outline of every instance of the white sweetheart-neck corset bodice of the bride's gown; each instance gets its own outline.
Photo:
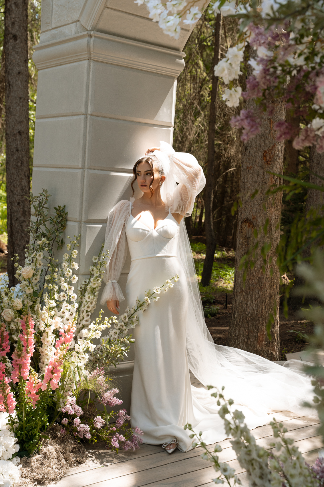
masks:
[[[129,216],[126,224],[126,237],[132,261],[146,257],[176,257],[178,245],[179,225],[169,215],[155,228],[146,225]]]

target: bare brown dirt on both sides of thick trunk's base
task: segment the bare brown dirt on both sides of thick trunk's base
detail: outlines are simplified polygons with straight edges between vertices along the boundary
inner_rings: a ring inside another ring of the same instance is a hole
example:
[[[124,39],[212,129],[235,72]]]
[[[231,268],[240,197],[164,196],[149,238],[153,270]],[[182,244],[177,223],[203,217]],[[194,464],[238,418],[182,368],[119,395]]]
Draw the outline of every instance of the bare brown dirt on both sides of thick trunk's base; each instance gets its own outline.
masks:
[[[215,317],[205,318],[208,330],[214,342],[218,345],[227,345],[228,326],[232,311],[232,294],[227,294],[227,309],[225,308],[225,300],[225,293],[215,293],[213,305],[219,306],[219,312]],[[300,352],[307,348],[307,341],[298,336],[297,333],[291,333],[290,330],[312,335],[313,323],[304,320],[293,311],[290,311],[288,318],[285,318],[283,310],[280,309],[281,360],[286,360],[286,353]]]

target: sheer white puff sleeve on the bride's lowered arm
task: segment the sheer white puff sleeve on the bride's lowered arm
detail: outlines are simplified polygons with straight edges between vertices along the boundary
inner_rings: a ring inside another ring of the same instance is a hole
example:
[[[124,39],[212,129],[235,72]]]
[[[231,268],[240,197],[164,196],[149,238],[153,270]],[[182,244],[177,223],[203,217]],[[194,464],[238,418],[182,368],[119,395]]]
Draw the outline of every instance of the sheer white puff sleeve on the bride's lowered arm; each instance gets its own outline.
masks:
[[[113,207],[108,215],[104,251],[109,251],[109,257],[103,275],[103,282],[106,285],[100,304],[106,304],[106,301],[110,300],[123,301],[125,299],[117,281],[127,255],[125,224],[130,213],[130,202],[122,200]]]

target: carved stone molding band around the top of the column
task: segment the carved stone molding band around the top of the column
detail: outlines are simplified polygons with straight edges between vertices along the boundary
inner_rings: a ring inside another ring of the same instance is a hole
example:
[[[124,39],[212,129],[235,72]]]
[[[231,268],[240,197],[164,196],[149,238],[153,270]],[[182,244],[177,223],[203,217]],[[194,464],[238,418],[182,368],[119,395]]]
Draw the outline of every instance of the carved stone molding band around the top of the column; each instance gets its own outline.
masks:
[[[92,59],[178,77],[184,69],[185,53],[145,44],[100,32],[83,32],[34,47],[33,60],[38,70]]]

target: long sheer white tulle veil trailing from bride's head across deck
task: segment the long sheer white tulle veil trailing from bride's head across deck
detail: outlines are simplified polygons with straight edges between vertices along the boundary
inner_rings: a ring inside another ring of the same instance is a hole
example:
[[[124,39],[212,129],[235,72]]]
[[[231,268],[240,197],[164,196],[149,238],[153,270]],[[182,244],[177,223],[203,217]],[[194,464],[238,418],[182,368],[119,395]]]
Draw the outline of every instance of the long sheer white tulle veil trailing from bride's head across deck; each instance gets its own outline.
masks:
[[[160,161],[166,179],[161,187],[161,197],[167,206],[178,208],[178,184],[185,186],[184,175],[177,170],[176,160],[186,165],[191,154],[175,152],[161,141],[161,149],[153,154]],[[198,194],[202,188],[196,192]],[[194,201],[192,202],[191,209]],[[187,213],[190,215],[191,212]],[[291,411],[301,415],[315,415],[315,410],[303,407],[312,401],[310,379],[301,370],[301,362],[290,360],[285,366],[258,355],[232,347],[214,344],[205,324],[199,286],[196,279],[192,251],[184,220],[180,223],[178,258],[186,273],[188,284],[187,354],[189,369],[205,386],[219,389],[236,405],[260,413]],[[297,363],[299,362],[299,363]]]

